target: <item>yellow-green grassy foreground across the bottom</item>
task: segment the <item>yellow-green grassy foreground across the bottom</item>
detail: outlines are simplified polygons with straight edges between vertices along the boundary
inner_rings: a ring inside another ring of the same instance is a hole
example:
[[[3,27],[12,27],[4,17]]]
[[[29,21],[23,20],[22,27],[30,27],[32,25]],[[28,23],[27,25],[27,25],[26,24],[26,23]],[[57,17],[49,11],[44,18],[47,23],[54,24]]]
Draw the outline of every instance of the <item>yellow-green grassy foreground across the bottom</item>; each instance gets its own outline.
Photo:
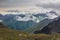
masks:
[[[60,40],[60,34],[28,34],[17,30],[0,28],[0,40]]]

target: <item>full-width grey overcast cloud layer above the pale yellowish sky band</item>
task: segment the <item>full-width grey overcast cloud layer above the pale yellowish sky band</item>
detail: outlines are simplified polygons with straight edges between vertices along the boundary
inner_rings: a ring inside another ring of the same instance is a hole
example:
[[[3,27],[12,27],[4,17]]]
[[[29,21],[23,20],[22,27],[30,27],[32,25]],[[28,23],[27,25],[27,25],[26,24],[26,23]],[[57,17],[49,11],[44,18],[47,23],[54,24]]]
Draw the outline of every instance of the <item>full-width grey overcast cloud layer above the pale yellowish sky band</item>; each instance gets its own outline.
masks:
[[[60,0],[0,0],[0,8],[35,6],[60,11]],[[41,8],[40,8],[41,9]]]

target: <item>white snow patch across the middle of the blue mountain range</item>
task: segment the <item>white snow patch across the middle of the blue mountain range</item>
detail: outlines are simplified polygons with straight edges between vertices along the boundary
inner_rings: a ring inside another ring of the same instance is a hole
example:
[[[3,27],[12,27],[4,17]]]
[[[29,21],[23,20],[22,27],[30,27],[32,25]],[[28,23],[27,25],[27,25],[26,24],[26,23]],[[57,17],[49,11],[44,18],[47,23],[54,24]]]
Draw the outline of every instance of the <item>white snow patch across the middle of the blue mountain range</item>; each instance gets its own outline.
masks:
[[[33,16],[33,15],[26,15],[23,18],[20,17],[20,16],[16,16],[15,19],[17,21],[29,21],[29,20],[32,20],[32,21],[34,21],[36,23],[40,22],[40,20],[37,17]]]

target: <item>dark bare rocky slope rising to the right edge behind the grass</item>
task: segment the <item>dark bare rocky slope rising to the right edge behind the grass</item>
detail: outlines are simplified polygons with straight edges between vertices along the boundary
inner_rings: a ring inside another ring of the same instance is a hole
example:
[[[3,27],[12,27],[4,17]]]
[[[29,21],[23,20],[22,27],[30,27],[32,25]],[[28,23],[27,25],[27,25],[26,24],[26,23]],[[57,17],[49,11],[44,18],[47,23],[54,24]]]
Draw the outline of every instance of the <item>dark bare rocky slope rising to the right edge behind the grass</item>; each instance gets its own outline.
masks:
[[[53,22],[49,23],[42,30],[37,30],[34,33],[35,34],[38,34],[38,33],[45,33],[45,34],[60,33],[60,18],[58,18],[58,20],[54,20]]]

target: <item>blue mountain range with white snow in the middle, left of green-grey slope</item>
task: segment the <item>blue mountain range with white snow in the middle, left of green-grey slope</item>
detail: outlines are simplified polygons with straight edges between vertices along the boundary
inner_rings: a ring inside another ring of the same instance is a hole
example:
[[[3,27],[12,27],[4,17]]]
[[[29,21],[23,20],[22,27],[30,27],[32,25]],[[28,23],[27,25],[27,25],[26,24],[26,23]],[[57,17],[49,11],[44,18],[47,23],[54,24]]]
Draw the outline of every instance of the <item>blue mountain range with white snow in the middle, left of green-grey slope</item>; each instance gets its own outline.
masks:
[[[33,14],[6,14],[1,15],[0,20],[3,20],[2,23],[10,29],[25,30],[45,19],[43,15],[45,14],[36,14],[36,16]]]

